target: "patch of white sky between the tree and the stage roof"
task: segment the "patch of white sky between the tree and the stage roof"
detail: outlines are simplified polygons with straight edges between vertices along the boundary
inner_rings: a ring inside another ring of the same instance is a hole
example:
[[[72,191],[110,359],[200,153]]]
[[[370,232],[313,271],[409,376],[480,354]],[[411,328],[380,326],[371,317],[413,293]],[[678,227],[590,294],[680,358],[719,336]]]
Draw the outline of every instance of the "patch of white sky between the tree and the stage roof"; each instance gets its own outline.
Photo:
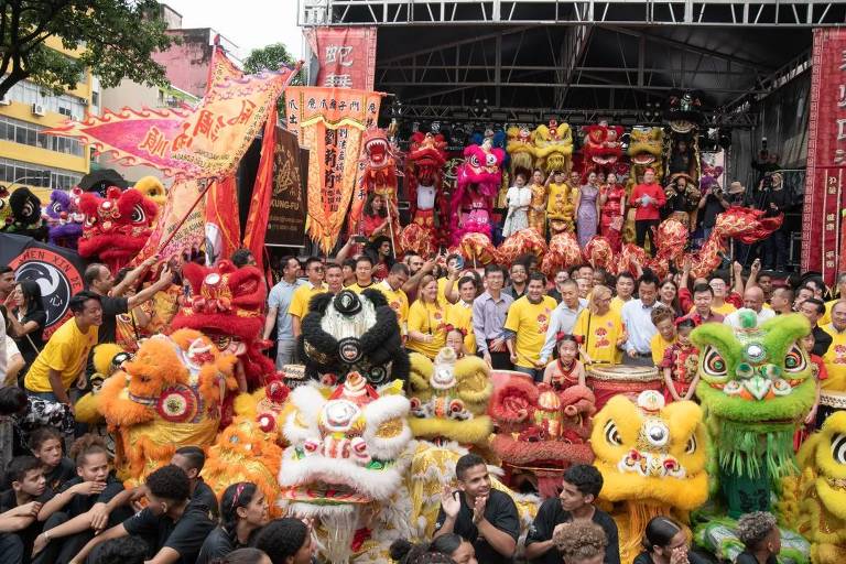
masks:
[[[284,43],[302,57],[303,34],[296,26],[296,0],[160,0],[182,14],[183,28],[213,28],[238,45],[243,59],[253,48]]]

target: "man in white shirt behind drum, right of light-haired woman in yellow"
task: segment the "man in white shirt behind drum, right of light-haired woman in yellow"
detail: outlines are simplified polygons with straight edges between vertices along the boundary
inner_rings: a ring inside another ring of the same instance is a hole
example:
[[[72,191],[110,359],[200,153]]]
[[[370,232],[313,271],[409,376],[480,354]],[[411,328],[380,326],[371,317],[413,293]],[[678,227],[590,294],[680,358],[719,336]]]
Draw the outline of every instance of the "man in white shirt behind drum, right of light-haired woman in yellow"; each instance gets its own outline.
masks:
[[[623,365],[654,366],[651,343],[658,329],[652,323],[652,308],[659,283],[658,276],[648,270],[638,279],[638,299],[629,300],[622,306],[622,323],[628,335]]]

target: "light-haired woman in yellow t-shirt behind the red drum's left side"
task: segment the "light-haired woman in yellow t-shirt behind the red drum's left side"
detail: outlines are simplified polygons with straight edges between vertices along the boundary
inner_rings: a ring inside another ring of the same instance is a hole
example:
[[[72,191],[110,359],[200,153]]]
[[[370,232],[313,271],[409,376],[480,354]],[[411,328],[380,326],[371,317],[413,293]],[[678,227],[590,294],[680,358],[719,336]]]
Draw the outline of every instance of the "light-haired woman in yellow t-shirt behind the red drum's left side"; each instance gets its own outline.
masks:
[[[594,286],[590,303],[578,314],[573,334],[584,337],[583,354],[587,362],[620,364],[620,345],[627,336],[620,315],[611,310],[608,286]]]

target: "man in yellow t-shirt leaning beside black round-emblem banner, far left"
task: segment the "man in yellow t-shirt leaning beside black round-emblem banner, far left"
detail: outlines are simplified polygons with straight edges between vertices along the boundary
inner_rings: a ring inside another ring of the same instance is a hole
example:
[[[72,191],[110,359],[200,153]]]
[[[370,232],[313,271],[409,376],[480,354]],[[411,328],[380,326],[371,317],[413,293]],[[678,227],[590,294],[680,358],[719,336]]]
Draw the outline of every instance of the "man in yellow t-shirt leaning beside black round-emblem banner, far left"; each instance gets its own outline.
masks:
[[[79,292],[68,304],[72,318],[50,337],[33,360],[23,384],[26,393],[57,401],[73,410],[67,390],[85,375],[88,354],[97,345],[97,328],[102,323],[100,296]]]

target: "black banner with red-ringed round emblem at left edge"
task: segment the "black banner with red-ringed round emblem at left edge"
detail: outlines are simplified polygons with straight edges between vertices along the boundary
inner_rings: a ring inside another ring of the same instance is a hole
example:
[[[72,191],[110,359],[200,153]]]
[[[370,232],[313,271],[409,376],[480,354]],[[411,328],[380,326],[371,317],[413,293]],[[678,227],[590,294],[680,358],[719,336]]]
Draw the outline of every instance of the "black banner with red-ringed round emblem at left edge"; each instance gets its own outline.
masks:
[[[44,339],[70,317],[70,296],[83,290],[86,261],[70,249],[39,242],[30,237],[0,234],[0,264],[14,269],[15,280],[34,280],[41,288],[47,324]]]

